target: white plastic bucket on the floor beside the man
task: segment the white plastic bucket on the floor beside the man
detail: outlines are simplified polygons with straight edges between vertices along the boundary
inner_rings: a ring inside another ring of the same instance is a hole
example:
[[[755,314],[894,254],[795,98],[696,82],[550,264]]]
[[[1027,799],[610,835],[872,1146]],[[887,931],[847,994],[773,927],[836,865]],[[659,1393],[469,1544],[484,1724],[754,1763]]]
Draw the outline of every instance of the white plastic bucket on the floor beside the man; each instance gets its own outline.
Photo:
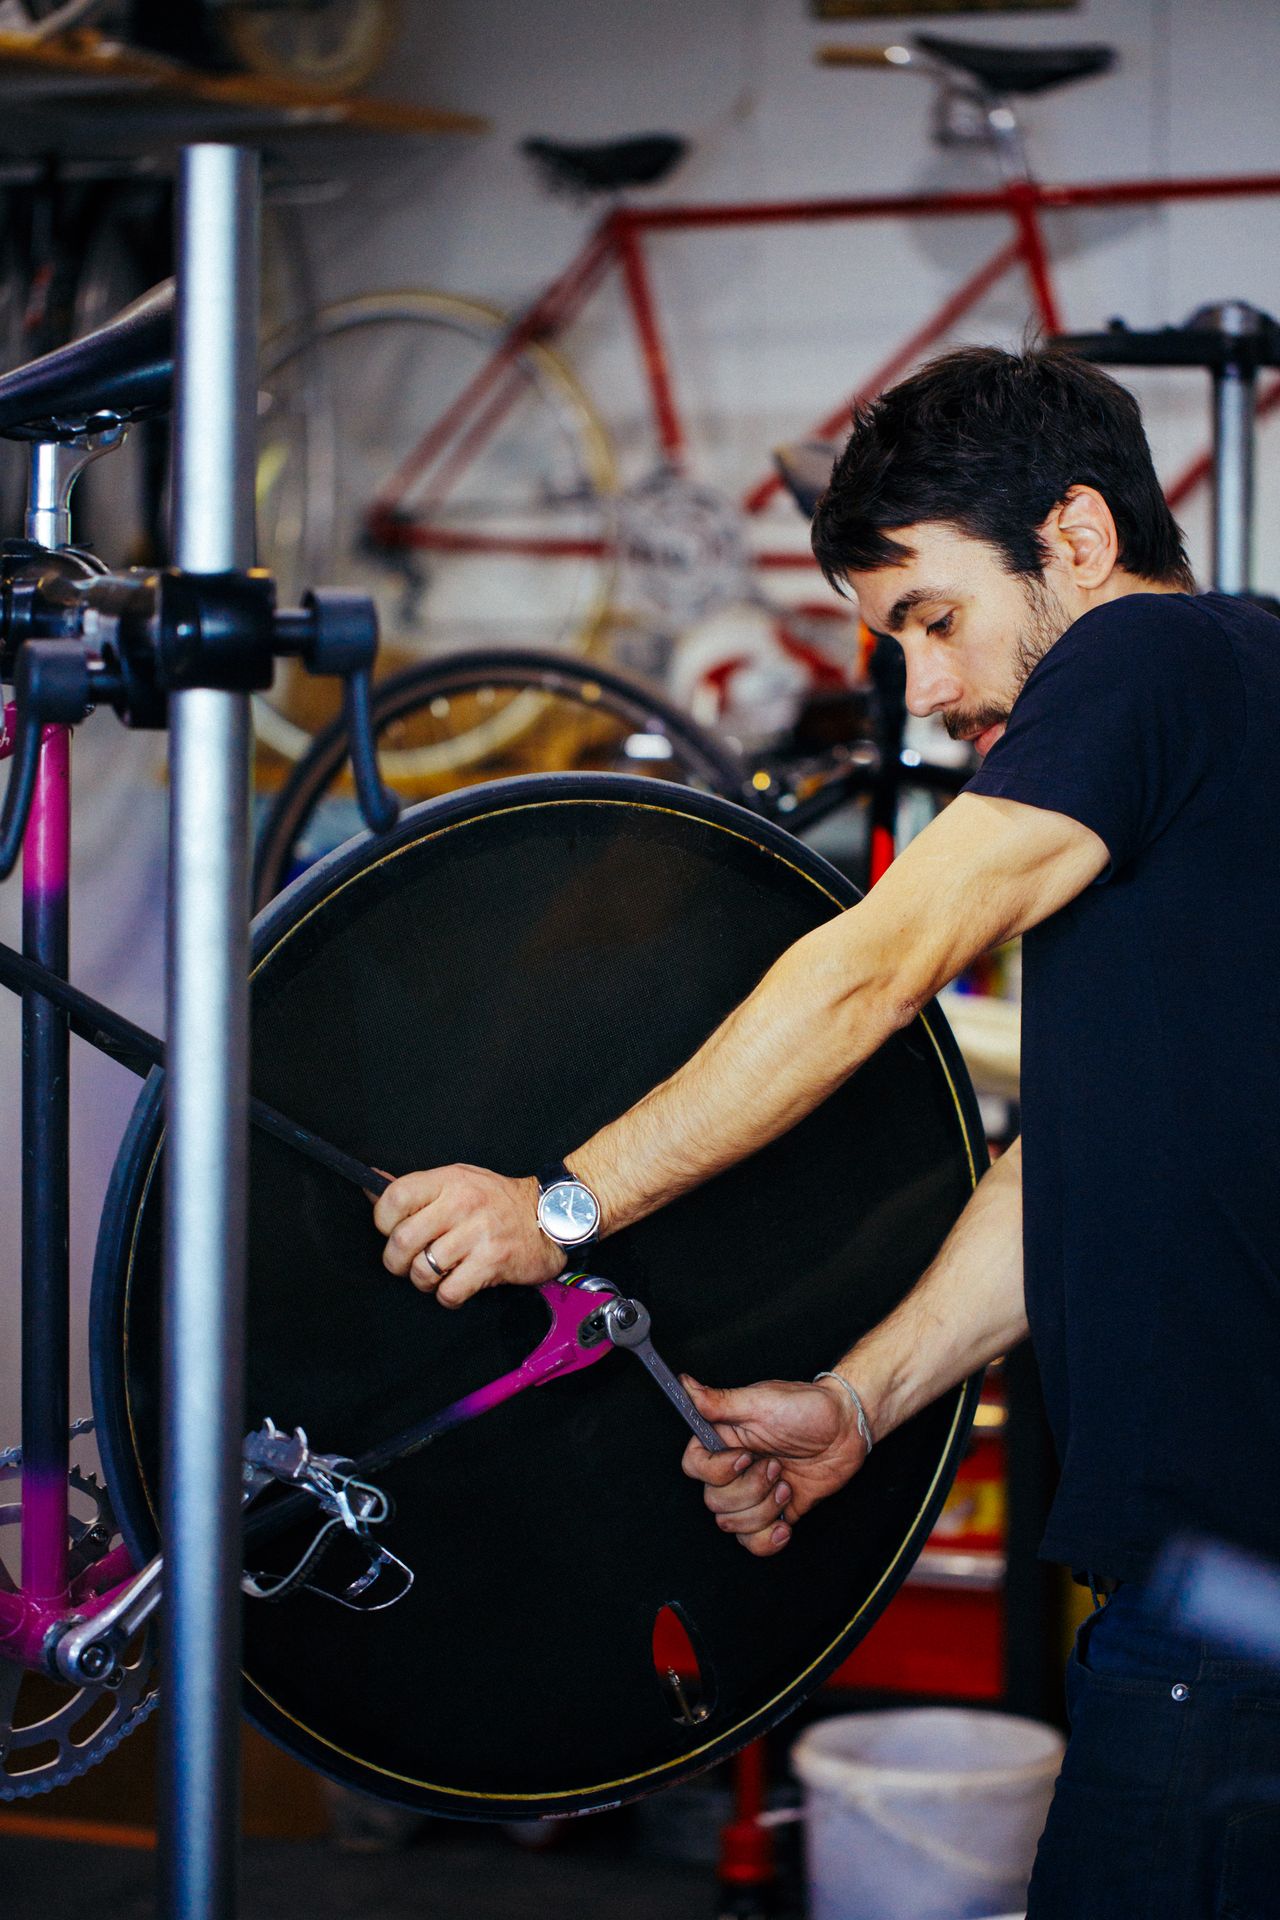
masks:
[[[806,1789],[810,1920],[981,1920],[1027,1905],[1063,1740],[967,1707],[819,1720]]]

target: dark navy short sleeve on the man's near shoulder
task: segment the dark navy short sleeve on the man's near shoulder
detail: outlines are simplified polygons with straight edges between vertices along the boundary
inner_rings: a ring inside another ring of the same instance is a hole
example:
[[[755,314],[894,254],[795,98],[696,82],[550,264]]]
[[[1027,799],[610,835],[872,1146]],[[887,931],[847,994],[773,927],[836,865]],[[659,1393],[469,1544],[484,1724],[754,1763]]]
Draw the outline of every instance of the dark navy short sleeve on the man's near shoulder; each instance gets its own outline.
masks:
[[[1025,801],[1092,828],[1107,879],[1244,749],[1244,684],[1217,620],[1140,593],[1084,614],[1027,676],[965,793]]]

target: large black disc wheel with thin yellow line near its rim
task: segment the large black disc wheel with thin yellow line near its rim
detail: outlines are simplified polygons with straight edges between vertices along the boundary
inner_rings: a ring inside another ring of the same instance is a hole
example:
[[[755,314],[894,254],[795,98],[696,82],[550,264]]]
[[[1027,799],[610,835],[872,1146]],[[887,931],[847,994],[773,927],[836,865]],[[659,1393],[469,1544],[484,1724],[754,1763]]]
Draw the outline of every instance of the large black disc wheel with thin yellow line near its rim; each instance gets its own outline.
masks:
[[[555,1164],[672,1073],[775,956],[854,902],[810,849],[712,795],[541,776],[449,795],[340,849],[255,922],[255,1092],[365,1164]],[[913,1284],[984,1164],[936,1008],[748,1162],[604,1240],[677,1371],[810,1379]],[[100,1444],[155,1546],[161,1087],[115,1167],[94,1277]],[[495,1380],[545,1331],[535,1288],[461,1311],[391,1279],[368,1200],[255,1135],[246,1430],[361,1457]],[[944,1394],[752,1559],[679,1471],[687,1432],[635,1357],[549,1380],[378,1475],[413,1590],[351,1613],[246,1601],[249,1718],[349,1786],[470,1818],[670,1786],[781,1720],[906,1576],[965,1444]],[[207,1490],[186,1490],[205,1500]],[[278,1542],[280,1569],[305,1538]],[[271,1569],[267,1569],[271,1571]],[[691,1663],[654,1653],[679,1620]],[[660,1632],[658,1632],[660,1640]]]

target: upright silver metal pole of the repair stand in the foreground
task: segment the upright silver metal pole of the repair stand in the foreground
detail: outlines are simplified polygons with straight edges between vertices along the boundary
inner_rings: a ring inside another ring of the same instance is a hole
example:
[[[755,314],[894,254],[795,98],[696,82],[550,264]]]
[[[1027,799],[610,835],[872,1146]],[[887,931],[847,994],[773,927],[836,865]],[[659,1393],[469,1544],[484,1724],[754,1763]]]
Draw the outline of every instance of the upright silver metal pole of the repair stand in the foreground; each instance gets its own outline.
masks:
[[[175,559],[253,559],[257,156],[178,180]],[[161,1747],[165,1920],[232,1920],[240,1816],[240,1419],[248,1175],[249,712],[171,701]]]

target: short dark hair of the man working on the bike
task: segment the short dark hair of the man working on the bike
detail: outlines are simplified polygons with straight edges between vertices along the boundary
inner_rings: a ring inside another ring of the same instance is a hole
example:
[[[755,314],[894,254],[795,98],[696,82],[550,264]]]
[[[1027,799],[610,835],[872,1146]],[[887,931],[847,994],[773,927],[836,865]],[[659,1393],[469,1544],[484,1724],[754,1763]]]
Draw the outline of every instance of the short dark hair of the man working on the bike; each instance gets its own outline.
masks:
[[[1134,396],[1059,348],[960,348],[854,409],[814,513],[814,553],[839,589],[850,572],[910,557],[894,530],[940,520],[992,545],[1011,574],[1040,578],[1038,528],[1073,486],[1111,509],[1121,566],[1194,588]]]

